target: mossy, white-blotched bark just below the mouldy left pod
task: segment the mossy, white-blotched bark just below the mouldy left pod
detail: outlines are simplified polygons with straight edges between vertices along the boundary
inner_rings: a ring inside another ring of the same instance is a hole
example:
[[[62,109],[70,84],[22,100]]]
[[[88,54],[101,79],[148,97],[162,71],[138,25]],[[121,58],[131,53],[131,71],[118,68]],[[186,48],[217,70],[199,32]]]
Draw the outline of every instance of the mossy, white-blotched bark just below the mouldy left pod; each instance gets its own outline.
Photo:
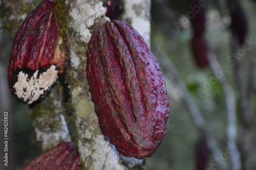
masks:
[[[46,151],[60,141],[71,141],[62,105],[62,87],[57,83],[47,99],[30,106],[27,112],[35,128],[35,136],[40,148]]]

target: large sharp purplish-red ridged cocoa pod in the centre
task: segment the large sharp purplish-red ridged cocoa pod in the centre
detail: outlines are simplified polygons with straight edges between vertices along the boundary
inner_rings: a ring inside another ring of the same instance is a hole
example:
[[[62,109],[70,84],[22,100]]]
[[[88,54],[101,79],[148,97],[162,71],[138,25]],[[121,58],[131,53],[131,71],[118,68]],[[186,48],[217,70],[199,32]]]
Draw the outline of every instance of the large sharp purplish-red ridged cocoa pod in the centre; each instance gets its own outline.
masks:
[[[93,32],[87,79],[105,136],[126,157],[153,155],[165,135],[168,101],[159,63],[129,23]]]

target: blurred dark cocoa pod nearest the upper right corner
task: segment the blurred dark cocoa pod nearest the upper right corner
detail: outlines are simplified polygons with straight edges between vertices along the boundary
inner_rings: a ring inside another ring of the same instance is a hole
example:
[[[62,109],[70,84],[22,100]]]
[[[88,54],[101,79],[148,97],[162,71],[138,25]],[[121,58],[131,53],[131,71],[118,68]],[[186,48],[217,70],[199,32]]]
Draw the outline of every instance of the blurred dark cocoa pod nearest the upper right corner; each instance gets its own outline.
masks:
[[[248,31],[248,23],[242,5],[240,3],[234,3],[233,8],[230,9],[230,15],[232,18],[232,33],[234,36],[238,37],[239,43],[243,44]]]

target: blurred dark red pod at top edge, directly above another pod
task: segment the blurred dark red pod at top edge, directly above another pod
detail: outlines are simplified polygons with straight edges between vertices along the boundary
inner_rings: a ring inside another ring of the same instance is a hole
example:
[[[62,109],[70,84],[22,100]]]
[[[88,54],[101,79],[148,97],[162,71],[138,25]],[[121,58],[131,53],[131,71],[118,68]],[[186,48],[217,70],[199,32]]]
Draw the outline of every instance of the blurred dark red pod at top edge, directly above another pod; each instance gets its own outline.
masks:
[[[191,17],[190,21],[195,36],[202,36],[205,29],[205,5],[202,5],[201,0],[190,1],[187,15]]]

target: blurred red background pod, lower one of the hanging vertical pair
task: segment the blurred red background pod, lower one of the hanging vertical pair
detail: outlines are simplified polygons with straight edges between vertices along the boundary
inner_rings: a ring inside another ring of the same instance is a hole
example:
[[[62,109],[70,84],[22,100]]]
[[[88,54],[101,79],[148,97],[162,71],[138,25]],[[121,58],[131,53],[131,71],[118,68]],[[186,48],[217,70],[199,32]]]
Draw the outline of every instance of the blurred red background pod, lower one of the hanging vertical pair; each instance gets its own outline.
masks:
[[[192,39],[192,51],[195,61],[199,67],[208,65],[207,46],[202,36],[195,36]]]

